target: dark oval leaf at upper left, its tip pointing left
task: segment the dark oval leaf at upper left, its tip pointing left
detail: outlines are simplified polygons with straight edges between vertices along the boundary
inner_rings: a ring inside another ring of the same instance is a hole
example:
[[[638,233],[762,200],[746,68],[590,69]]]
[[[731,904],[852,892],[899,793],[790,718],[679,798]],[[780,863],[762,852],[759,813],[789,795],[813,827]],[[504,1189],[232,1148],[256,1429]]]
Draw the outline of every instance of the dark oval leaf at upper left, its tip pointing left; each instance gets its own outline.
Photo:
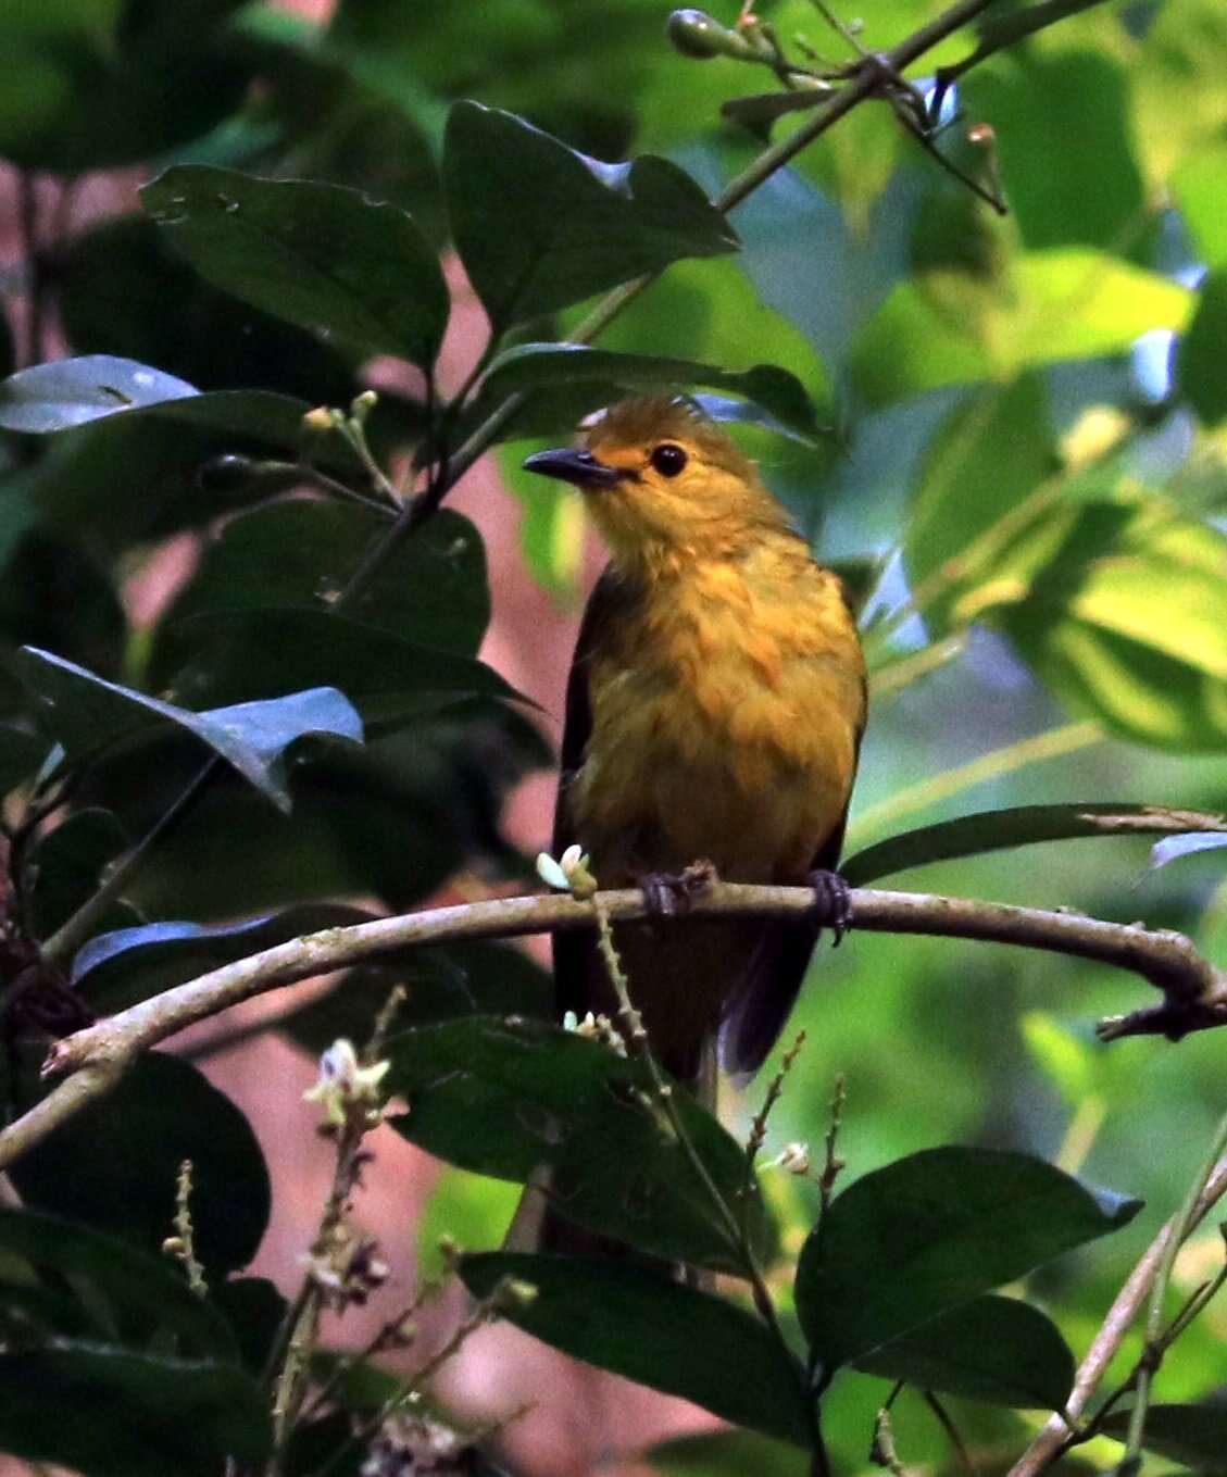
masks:
[[[449,297],[413,220],[360,191],[177,165],[140,199],[195,269],[320,337],[428,369]]]

